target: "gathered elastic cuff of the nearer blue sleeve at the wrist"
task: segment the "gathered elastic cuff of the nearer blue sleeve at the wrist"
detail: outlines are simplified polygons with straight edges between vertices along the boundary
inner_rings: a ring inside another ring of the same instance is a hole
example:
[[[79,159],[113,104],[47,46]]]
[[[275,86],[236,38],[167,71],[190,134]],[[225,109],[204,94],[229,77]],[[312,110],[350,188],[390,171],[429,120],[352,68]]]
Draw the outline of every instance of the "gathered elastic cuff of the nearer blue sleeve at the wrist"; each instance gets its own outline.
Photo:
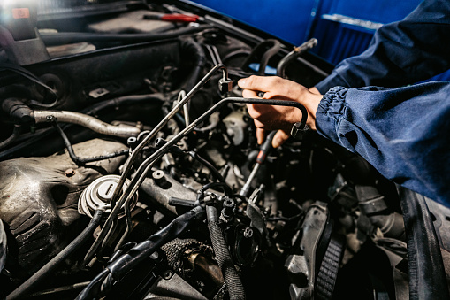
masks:
[[[339,121],[345,112],[345,98],[348,88],[334,87],[325,93],[316,112],[317,133],[339,143]]]

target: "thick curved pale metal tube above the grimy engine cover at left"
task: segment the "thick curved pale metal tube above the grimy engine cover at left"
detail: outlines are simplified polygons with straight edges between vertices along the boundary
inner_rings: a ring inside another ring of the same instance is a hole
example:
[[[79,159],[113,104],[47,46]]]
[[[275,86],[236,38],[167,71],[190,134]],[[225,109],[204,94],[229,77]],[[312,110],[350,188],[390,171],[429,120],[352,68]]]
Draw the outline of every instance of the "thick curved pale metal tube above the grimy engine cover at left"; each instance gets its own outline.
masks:
[[[72,123],[82,127],[87,127],[102,135],[113,135],[119,137],[135,136],[139,135],[141,132],[141,130],[137,127],[127,125],[114,126],[80,112],[34,111],[34,121],[36,124],[50,121]]]

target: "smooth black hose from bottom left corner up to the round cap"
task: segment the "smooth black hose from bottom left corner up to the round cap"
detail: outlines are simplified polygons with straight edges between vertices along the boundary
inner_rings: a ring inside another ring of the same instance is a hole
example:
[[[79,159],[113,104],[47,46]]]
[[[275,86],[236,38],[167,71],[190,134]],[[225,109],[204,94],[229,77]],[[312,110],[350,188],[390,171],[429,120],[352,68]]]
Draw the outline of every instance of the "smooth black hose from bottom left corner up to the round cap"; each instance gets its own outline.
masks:
[[[94,217],[90,220],[88,227],[86,227],[80,235],[78,235],[70,244],[68,244],[64,250],[59,252],[56,257],[52,258],[46,265],[42,266],[39,271],[33,274],[27,281],[22,283],[19,288],[14,289],[10,295],[6,296],[7,300],[19,299],[27,296],[42,280],[47,279],[47,277],[55,271],[58,265],[69,258],[73,252],[80,249],[85,242],[92,236],[95,228],[100,223],[102,219],[103,211],[97,210],[94,213]]]

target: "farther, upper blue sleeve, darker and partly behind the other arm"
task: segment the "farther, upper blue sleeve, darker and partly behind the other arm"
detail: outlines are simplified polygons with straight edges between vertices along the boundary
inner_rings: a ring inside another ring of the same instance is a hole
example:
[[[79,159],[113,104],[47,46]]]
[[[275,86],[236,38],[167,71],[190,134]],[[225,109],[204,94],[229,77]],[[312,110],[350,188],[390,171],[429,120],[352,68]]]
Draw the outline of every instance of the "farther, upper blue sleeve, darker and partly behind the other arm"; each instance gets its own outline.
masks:
[[[450,68],[450,2],[425,0],[405,19],[380,27],[361,55],[347,58],[316,88],[397,88]]]

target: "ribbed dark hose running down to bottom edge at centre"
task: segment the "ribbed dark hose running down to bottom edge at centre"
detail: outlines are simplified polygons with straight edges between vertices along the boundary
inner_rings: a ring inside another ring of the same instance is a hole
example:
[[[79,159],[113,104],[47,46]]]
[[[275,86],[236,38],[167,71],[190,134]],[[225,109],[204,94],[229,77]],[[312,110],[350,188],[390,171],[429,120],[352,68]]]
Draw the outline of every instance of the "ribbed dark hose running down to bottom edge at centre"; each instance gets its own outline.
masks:
[[[234,268],[230,251],[226,246],[224,232],[217,222],[218,217],[216,207],[212,205],[206,206],[206,217],[208,219],[208,229],[210,230],[212,248],[216,254],[217,263],[224,275],[230,299],[245,299],[244,286],[240,281],[238,272]]]

